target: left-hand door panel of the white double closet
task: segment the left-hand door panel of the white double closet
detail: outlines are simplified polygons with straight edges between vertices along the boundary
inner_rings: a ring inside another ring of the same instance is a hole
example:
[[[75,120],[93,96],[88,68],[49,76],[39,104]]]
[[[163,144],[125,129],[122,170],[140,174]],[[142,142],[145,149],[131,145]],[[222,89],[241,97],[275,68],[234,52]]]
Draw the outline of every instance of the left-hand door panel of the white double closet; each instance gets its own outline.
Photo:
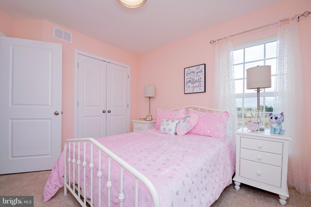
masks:
[[[78,55],[78,138],[106,136],[106,62]]]

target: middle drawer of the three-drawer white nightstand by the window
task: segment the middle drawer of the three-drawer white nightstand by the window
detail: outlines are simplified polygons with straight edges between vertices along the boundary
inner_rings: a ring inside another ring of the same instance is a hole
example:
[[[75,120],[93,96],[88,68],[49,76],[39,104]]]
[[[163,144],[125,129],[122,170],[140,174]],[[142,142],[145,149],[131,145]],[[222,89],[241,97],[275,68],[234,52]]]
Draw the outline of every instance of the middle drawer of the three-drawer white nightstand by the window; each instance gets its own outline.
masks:
[[[240,158],[247,159],[255,162],[260,162],[264,164],[275,165],[278,167],[282,167],[283,156],[267,153],[267,152],[260,152],[257,150],[250,150],[250,149],[243,149],[240,150]]]

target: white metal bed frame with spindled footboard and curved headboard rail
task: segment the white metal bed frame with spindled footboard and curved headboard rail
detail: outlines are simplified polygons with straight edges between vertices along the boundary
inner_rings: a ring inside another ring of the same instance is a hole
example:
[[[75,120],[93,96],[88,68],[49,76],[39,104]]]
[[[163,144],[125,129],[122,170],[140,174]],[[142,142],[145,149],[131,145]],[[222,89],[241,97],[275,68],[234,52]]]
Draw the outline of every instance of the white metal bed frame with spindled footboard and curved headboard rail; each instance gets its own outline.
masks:
[[[201,111],[201,112],[213,112],[213,113],[218,113],[218,112],[223,112],[221,110],[217,109],[211,109],[211,108],[205,108],[205,107],[199,107],[199,106],[186,106],[186,107],[180,107],[180,108],[175,108],[171,109],[171,111],[179,110],[186,108],[186,111],[189,109],[195,110],[195,111]],[[87,199],[86,196],[86,142],[90,143],[90,163],[88,165],[90,169],[90,199]],[[72,143],[72,144],[71,144]],[[76,152],[76,143],[78,144],[78,158],[76,160],[75,157],[75,152]],[[84,153],[83,153],[83,161],[81,160],[80,157],[80,143],[83,143],[84,145]],[[68,152],[69,152],[69,158],[66,160],[66,154],[67,154],[67,146],[68,147]],[[70,158],[70,146],[72,145],[72,155],[73,158]],[[155,186],[152,184],[152,182],[142,173],[140,173],[138,170],[136,170],[134,167],[132,167],[130,164],[125,162],[123,159],[118,157],[116,154],[114,154],[112,151],[104,147],[103,144],[99,143],[93,138],[79,138],[79,139],[68,139],[65,142],[64,146],[64,194],[67,195],[67,191],[71,192],[71,194],[77,199],[77,201],[81,204],[81,206],[86,207],[86,203],[89,206],[93,206],[93,182],[95,182],[95,179],[93,179],[93,168],[94,168],[94,163],[93,163],[93,146],[97,147],[98,150],[98,172],[97,172],[97,178],[98,178],[98,207],[101,207],[101,178],[102,178],[102,169],[101,169],[101,153],[105,153],[108,156],[108,180],[106,182],[106,187],[108,190],[108,199],[107,199],[107,207],[111,207],[111,187],[112,187],[112,182],[111,182],[111,159],[115,160],[117,163],[120,165],[120,193],[119,193],[119,201],[120,201],[120,207],[123,207],[123,201],[125,198],[124,192],[123,192],[123,168],[127,170],[129,173],[135,176],[135,207],[138,207],[138,180],[140,180],[142,183],[146,185],[148,190],[150,191],[150,194],[153,198],[154,201],[154,207],[159,207],[159,196],[155,190]],[[81,168],[81,161],[82,161],[82,166],[83,166],[83,176],[84,176],[84,188],[81,189],[81,184],[80,184],[80,168]],[[67,172],[67,163],[68,162],[68,171]],[[72,164],[72,177],[73,180],[70,180],[70,169]],[[76,178],[76,172],[75,172],[75,165],[78,166],[78,183],[75,183],[75,178]],[[83,197],[83,200],[81,199]],[[104,204],[104,206],[106,206]]]

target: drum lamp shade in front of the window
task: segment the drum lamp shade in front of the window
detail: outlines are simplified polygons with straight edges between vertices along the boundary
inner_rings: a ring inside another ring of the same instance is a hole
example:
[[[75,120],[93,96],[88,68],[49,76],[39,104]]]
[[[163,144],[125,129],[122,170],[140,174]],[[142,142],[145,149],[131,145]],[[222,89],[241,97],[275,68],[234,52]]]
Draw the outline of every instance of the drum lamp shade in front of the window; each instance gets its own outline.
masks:
[[[246,70],[246,89],[271,88],[271,65],[251,67]]]

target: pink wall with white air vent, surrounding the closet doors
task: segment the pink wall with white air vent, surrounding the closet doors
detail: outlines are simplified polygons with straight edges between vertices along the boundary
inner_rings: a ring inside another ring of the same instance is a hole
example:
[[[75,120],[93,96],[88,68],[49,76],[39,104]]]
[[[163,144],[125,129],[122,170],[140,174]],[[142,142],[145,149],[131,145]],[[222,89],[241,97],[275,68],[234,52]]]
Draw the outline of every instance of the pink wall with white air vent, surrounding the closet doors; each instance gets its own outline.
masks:
[[[5,21],[2,21],[5,17]],[[136,54],[92,39],[84,34],[69,30],[60,25],[46,20],[14,20],[0,11],[0,32],[7,36],[61,43],[63,45],[63,94],[62,94],[62,143],[73,138],[74,131],[74,50],[78,49],[87,53],[106,58],[111,61],[130,65],[131,67],[131,109],[130,120],[137,115],[137,60]],[[72,32],[72,43],[53,38],[53,26]],[[131,130],[133,124],[131,122]]]

